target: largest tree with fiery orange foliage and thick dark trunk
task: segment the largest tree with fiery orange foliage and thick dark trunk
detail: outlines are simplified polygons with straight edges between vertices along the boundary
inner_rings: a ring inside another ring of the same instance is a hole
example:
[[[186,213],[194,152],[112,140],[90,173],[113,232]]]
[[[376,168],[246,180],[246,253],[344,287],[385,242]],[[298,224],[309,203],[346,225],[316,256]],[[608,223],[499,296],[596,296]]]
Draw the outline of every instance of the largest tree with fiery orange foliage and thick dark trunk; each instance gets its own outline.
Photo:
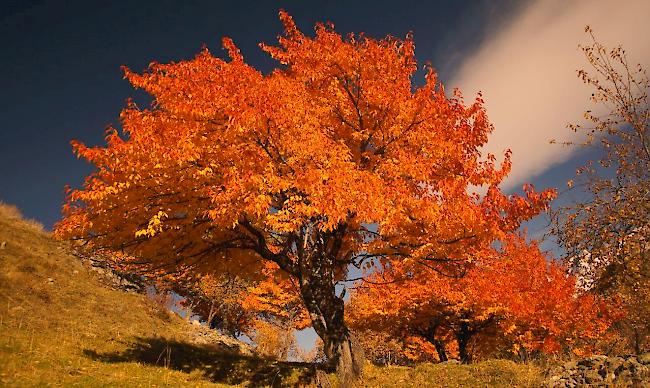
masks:
[[[261,44],[278,62],[269,74],[229,39],[227,61],[205,49],[126,69],[153,103],[129,102],[107,146],[73,143],[96,171],[68,193],[56,232],[151,270],[252,278],[272,263],[296,285],[329,366],[358,372],[337,287],[350,266],[469,260],[553,194],[500,191],[510,162],[481,155],[492,131],[481,99],[448,96],[430,66],[414,84],[410,35],[344,38],[318,24],[311,37],[280,19],[279,45]]]

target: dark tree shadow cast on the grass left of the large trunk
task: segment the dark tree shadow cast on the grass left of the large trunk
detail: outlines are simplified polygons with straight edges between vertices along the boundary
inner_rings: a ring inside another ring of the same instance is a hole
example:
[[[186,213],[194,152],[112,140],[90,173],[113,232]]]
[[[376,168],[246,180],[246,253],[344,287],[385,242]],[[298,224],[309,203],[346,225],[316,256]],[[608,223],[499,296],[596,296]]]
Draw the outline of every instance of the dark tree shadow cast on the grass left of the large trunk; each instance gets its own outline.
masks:
[[[108,363],[140,362],[186,373],[199,371],[215,383],[241,384],[251,387],[304,386],[313,380],[314,368],[300,362],[280,362],[246,356],[214,345],[195,345],[165,338],[135,338],[122,352],[97,353],[84,350],[94,360]]]

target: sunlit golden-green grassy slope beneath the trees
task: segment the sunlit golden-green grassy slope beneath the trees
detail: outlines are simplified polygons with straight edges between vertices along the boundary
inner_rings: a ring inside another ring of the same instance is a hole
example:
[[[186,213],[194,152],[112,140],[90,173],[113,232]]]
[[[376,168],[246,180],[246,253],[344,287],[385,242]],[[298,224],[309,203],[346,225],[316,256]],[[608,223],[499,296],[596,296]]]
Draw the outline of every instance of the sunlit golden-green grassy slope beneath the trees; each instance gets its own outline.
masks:
[[[207,338],[207,339],[206,339]],[[207,336],[146,297],[112,289],[42,228],[0,204],[0,385],[296,386],[299,363],[273,362]],[[368,367],[364,387],[536,386],[507,361]]]

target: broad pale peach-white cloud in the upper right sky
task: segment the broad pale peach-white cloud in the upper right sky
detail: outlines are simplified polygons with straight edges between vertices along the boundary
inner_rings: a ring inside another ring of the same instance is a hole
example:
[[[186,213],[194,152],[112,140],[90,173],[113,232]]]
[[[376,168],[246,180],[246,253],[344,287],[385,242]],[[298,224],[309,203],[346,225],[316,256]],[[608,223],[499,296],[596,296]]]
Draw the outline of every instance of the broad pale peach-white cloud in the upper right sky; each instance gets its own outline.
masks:
[[[460,87],[469,100],[481,90],[494,123],[486,151],[513,151],[511,189],[562,163],[570,149],[549,144],[576,136],[566,128],[589,108],[591,91],[576,76],[587,63],[578,48],[588,43],[590,25],[606,46],[622,44],[632,63],[650,63],[647,22],[650,1],[533,2],[462,64],[447,86]]]

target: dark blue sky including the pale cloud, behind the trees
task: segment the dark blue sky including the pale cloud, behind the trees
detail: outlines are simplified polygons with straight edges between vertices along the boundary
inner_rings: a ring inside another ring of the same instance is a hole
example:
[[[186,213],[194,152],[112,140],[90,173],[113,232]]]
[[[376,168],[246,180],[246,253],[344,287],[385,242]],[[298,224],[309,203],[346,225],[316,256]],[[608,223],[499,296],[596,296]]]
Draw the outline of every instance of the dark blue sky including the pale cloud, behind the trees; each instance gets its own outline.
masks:
[[[566,124],[589,108],[576,76],[586,65],[578,48],[585,25],[607,45],[623,44],[632,62],[650,63],[645,22],[650,1],[3,1],[0,8],[0,200],[17,205],[47,228],[60,217],[64,186],[79,186],[91,167],[70,140],[103,144],[129,97],[145,98],[120,66],[141,71],[151,61],[214,54],[229,36],[245,60],[264,72],[274,63],[257,46],[281,32],[286,9],[305,32],[331,21],[340,33],[404,37],[430,61],[448,90],[467,100],[480,90],[495,132],[485,149],[513,151],[505,182],[562,192],[575,168],[597,157],[551,145],[572,140]],[[577,200],[575,193],[560,201]],[[544,233],[545,220],[528,225]]]

